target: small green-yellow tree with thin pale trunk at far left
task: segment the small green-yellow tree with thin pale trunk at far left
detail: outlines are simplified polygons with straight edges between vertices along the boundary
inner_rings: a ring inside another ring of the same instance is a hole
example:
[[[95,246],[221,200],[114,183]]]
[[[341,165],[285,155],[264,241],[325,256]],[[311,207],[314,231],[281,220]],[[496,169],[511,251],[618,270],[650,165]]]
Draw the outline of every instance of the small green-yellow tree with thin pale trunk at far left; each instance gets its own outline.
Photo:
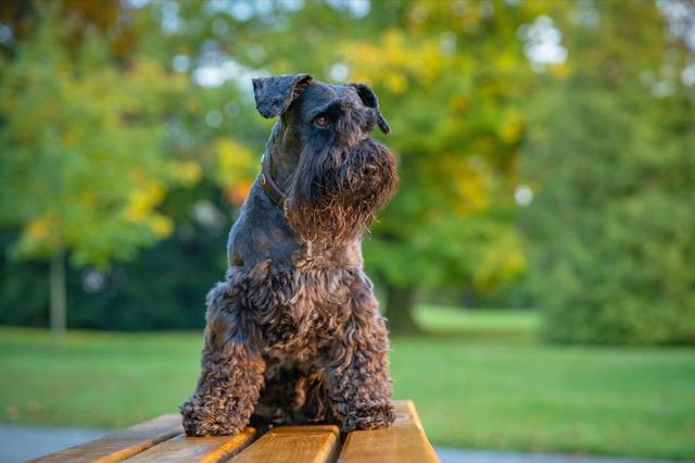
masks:
[[[103,36],[68,48],[74,24],[37,3],[36,27],[0,71],[0,223],[21,227],[13,254],[51,260],[51,324],[65,328],[64,259],[77,266],[130,259],[168,236],[156,211],[198,163],[167,154],[162,121],[186,80],[155,61],[111,61]]]

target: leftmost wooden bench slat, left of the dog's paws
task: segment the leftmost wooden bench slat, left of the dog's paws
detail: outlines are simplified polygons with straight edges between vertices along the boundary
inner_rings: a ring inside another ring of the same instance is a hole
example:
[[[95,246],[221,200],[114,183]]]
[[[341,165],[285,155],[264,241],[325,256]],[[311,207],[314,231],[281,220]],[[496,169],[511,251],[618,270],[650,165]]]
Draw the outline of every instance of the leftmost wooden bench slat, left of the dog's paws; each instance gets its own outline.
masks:
[[[40,456],[31,462],[119,462],[156,446],[182,430],[181,415],[162,415],[110,434],[101,439]]]

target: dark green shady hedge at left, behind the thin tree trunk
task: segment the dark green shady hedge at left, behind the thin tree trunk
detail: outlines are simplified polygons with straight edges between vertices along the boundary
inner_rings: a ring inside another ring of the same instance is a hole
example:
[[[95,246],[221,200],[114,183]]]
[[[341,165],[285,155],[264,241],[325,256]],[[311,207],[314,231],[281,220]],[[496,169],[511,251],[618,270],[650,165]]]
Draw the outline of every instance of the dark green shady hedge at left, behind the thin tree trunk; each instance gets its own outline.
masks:
[[[201,198],[205,198],[201,200]],[[67,268],[71,327],[104,330],[201,328],[204,298],[227,266],[224,252],[231,215],[210,182],[177,189],[161,205],[176,230],[138,259],[109,268]],[[0,247],[15,234],[0,235]],[[0,256],[0,323],[47,326],[48,266]]]

